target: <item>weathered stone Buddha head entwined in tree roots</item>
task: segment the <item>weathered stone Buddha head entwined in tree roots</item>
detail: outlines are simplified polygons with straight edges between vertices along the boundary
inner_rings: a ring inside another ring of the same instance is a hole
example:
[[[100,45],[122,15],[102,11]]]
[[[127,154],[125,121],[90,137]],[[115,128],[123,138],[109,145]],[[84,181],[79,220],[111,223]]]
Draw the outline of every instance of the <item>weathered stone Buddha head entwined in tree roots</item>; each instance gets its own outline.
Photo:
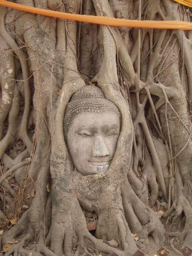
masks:
[[[67,105],[64,135],[74,166],[82,175],[103,173],[113,159],[120,113],[96,86],[84,86]]]

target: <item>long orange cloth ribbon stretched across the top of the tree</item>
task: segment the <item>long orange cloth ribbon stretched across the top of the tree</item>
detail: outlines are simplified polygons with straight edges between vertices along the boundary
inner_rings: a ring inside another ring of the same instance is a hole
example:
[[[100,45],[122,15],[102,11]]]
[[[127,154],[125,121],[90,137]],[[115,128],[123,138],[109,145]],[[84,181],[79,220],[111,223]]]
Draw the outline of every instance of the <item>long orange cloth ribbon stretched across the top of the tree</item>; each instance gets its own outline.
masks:
[[[148,28],[148,29],[180,29],[180,30],[191,30],[192,24],[190,22],[182,22],[179,20],[131,20],[131,19],[119,19],[105,16],[92,16],[92,15],[81,15],[72,14],[65,12],[57,12],[47,9],[40,9],[31,6],[19,5],[8,1],[0,0],[0,5],[14,8],[20,11],[75,20],[76,22],[86,22],[105,26],[114,27],[132,27],[132,28]]]

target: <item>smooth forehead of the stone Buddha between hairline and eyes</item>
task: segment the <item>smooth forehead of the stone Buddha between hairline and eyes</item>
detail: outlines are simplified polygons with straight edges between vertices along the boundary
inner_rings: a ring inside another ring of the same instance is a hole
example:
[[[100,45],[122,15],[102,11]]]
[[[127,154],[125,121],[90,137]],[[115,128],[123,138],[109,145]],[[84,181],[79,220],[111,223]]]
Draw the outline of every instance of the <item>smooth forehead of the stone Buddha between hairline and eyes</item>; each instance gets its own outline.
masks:
[[[70,127],[78,128],[78,127],[102,127],[104,126],[111,126],[112,124],[117,125],[120,127],[120,118],[117,113],[115,112],[103,112],[103,113],[95,113],[95,112],[82,112],[78,113],[74,116],[70,123]]]

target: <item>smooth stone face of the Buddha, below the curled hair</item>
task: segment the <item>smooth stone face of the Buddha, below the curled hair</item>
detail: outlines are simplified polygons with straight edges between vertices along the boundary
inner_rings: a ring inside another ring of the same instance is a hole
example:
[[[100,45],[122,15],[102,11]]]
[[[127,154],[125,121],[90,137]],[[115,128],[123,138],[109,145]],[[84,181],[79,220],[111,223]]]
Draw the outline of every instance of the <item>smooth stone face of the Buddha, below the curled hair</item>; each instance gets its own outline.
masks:
[[[72,161],[82,175],[103,173],[113,159],[120,132],[115,112],[78,113],[67,134]]]

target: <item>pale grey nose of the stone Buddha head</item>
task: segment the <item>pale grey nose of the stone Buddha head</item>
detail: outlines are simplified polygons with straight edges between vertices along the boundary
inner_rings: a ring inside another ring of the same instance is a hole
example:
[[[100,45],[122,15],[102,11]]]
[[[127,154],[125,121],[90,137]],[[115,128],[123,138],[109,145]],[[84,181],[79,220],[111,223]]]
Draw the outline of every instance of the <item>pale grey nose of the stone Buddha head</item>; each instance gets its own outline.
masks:
[[[93,153],[93,157],[109,156],[110,153],[103,141],[102,136],[96,135],[92,153]]]

